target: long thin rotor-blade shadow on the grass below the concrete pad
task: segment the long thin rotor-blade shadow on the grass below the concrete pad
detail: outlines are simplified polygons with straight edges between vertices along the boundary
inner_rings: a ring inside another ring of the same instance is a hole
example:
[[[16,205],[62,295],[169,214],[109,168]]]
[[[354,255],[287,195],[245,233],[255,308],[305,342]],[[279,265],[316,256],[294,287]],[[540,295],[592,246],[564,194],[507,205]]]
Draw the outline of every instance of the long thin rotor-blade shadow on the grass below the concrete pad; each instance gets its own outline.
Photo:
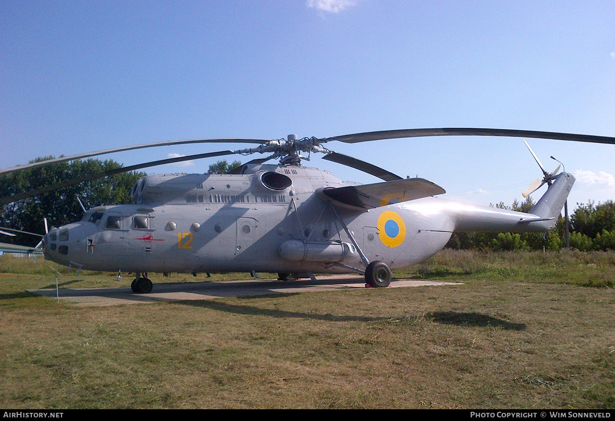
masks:
[[[387,317],[365,317],[352,315],[333,315],[333,314],[313,314],[301,313],[296,311],[284,311],[273,309],[261,309],[254,306],[238,306],[236,304],[220,303],[219,301],[181,301],[183,304],[194,307],[202,307],[216,311],[224,311],[232,314],[245,315],[264,315],[269,317],[277,317],[279,319],[311,319],[311,320],[327,320],[329,322],[378,322],[381,320],[389,320]]]

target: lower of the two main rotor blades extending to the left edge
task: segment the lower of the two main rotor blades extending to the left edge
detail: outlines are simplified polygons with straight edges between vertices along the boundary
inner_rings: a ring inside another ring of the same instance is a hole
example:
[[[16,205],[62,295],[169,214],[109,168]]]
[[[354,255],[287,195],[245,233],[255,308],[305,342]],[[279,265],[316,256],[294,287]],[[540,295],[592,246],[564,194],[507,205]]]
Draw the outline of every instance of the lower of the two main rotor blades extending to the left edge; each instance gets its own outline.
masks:
[[[110,169],[109,171],[98,172],[97,174],[89,174],[87,176],[76,177],[70,180],[64,180],[58,183],[50,184],[44,187],[36,188],[34,190],[25,191],[23,193],[18,193],[14,196],[6,196],[4,198],[0,198],[0,206],[3,206],[7,203],[12,203],[21,199],[29,198],[31,196],[41,195],[42,193],[47,193],[48,191],[56,190],[57,188],[68,187],[71,185],[75,185],[78,183],[97,180],[103,177],[114,176],[115,174],[121,174],[122,172],[136,171],[141,168],[148,168],[157,165],[163,164],[172,164],[176,162],[189,161],[189,160],[197,160],[200,158],[211,158],[212,156],[224,156],[224,155],[232,155],[236,153],[234,150],[222,150],[220,152],[209,152],[209,153],[199,153],[197,155],[188,155],[188,156],[178,156],[177,158],[167,158],[165,160],[151,161],[143,164],[130,165],[127,167]]]

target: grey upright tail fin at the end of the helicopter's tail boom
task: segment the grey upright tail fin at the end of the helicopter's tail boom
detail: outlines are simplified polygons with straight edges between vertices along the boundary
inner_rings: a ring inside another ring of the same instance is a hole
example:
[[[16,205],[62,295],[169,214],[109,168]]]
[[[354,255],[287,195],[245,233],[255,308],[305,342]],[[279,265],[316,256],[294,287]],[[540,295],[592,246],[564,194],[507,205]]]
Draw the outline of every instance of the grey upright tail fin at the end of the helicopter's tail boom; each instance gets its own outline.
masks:
[[[566,203],[568,194],[574,184],[574,177],[569,172],[562,172],[553,178],[555,181],[547,188],[547,192],[530,210],[530,214],[537,215],[541,220],[530,222],[532,228],[550,230],[560,217],[561,208]]]

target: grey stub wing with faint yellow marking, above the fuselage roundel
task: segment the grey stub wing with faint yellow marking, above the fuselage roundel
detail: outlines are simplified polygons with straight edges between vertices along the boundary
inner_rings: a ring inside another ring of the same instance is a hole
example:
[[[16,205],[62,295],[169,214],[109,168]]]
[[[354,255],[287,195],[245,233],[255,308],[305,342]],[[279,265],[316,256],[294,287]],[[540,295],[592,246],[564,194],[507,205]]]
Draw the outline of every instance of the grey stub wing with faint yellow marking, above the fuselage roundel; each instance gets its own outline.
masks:
[[[323,193],[329,198],[348,206],[373,209],[408,200],[426,198],[427,196],[442,195],[446,191],[429,180],[405,179],[384,183],[325,188]]]

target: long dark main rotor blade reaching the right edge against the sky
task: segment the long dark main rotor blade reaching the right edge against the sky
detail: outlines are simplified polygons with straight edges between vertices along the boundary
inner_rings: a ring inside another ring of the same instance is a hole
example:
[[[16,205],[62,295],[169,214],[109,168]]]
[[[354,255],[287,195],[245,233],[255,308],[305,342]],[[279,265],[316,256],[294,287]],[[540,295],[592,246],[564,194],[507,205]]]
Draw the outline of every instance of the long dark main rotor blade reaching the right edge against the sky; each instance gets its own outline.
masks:
[[[371,131],[366,133],[345,134],[343,136],[325,137],[319,139],[320,143],[340,141],[345,143],[359,143],[379,141],[383,139],[401,139],[403,137],[428,136],[505,136],[505,137],[534,137],[536,139],[554,139],[558,141],[594,142],[615,144],[615,137],[593,136],[591,134],[557,133],[551,131],[516,130],[516,129],[489,129],[489,128],[441,128],[441,129],[401,129]]]

